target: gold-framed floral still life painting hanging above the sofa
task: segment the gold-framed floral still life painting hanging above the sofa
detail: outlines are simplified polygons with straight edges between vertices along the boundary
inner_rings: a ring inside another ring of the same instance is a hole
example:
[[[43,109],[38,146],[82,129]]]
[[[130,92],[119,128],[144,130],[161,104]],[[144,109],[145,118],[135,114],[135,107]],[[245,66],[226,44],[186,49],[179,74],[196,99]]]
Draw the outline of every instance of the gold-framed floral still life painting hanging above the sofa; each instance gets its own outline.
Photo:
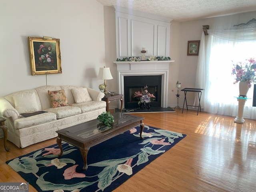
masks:
[[[60,39],[28,37],[32,75],[62,73]]]

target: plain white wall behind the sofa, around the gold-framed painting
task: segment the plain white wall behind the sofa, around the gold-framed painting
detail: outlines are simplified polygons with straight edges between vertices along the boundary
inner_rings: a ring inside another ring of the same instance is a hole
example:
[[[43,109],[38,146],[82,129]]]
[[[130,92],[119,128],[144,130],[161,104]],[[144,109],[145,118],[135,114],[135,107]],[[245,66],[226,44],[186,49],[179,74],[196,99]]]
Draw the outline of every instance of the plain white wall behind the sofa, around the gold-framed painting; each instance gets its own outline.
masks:
[[[60,39],[62,74],[48,75],[48,85],[102,83],[104,10],[96,0],[1,0],[0,24],[0,96],[46,85],[45,75],[31,75],[28,36]]]

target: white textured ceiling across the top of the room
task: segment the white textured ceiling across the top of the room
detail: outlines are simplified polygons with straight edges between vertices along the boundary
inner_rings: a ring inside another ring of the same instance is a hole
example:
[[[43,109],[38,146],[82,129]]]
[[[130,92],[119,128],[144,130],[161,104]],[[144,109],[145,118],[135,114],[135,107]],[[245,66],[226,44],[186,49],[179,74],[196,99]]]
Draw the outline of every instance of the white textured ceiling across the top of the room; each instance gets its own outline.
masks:
[[[190,21],[256,10],[256,0],[97,0],[105,6],[120,6]]]

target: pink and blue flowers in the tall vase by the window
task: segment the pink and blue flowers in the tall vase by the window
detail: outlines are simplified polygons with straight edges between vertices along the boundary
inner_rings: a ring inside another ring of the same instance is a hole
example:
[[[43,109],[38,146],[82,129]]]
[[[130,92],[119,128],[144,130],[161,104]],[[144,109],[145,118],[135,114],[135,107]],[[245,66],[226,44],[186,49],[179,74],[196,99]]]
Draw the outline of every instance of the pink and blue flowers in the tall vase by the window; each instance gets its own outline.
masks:
[[[232,75],[236,75],[234,84],[238,82],[247,82],[248,87],[256,82],[256,61],[254,58],[246,59],[245,62],[233,64]]]

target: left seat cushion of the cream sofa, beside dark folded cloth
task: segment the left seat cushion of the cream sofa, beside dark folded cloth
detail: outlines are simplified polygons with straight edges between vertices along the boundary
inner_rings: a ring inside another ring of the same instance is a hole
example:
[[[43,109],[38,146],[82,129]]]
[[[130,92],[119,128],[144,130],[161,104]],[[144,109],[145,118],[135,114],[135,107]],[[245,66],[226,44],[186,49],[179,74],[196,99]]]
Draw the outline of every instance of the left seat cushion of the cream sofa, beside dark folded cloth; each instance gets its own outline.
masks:
[[[14,127],[19,129],[23,127],[29,127],[33,125],[38,125],[50,121],[56,120],[56,114],[54,113],[42,113],[30,117],[23,117],[16,119],[14,121]]]

